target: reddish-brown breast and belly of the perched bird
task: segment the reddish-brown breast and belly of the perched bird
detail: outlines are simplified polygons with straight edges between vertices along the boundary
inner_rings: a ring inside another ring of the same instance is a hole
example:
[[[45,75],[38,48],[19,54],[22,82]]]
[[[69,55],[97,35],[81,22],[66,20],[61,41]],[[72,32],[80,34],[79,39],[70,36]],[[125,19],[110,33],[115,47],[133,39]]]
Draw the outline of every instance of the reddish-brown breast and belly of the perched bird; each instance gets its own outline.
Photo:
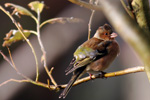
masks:
[[[107,49],[109,50],[105,56],[97,59],[96,61],[90,63],[87,66],[87,72],[91,74],[97,74],[110,66],[110,64],[114,61],[114,59],[119,53],[118,43],[116,41],[112,42],[112,44],[108,46]]]

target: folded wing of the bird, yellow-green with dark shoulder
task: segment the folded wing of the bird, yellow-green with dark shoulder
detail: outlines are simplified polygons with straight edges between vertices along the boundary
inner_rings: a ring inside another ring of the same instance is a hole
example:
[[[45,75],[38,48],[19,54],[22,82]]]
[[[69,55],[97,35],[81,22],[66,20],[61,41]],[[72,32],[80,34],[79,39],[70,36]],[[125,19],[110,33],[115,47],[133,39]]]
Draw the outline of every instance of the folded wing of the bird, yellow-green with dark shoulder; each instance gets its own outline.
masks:
[[[103,41],[97,45],[97,49],[79,46],[74,53],[74,58],[66,69],[66,75],[75,71],[76,69],[86,66],[92,61],[102,58],[109,53],[107,48],[112,41]]]

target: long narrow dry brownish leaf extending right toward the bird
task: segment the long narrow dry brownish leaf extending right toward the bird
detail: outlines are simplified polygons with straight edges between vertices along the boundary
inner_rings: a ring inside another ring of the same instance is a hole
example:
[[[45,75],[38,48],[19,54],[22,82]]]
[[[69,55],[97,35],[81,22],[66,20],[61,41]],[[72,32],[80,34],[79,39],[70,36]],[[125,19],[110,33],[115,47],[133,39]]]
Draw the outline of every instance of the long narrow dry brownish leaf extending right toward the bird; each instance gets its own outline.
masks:
[[[69,23],[79,23],[79,22],[83,22],[82,19],[79,18],[74,18],[74,17],[59,17],[59,18],[53,18],[53,19],[48,19],[46,21],[44,21],[40,27],[42,27],[43,25],[50,23],[50,24],[54,24],[54,23],[61,23],[61,24],[65,24],[66,22]]]

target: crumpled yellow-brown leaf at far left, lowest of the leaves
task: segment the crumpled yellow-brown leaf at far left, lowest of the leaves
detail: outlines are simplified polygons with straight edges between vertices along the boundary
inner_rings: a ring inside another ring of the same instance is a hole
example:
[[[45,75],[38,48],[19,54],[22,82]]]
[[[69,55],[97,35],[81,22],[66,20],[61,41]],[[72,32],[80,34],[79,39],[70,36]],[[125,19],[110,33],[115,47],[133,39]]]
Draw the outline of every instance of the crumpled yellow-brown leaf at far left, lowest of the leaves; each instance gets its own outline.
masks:
[[[26,37],[30,36],[30,31],[29,30],[23,30],[23,33]],[[15,43],[20,40],[24,40],[23,36],[18,30],[10,30],[7,34],[6,37],[4,38],[3,42],[3,47],[5,46],[10,46],[12,43]]]

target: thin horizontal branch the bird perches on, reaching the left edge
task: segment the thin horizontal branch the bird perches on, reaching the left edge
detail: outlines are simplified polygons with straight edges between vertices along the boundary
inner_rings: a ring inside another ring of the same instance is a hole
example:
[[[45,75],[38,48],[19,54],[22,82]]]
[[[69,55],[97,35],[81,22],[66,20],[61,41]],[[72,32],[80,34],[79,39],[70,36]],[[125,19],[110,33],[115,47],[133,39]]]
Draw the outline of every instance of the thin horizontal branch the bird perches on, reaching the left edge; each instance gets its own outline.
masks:
[[[77,80],[74,83],[73,86],[79,85],[81,83],[84,83],[84,82],[87,82],[87,81],[90,81],[90,80],[93,80],[93,79],[115,77],[115,76],[121,76],[121,75],[136,73],[136,72],[144,72],[144,67],[143,66],[137,66],[137,67],[121,70],[121,71],[106,73],[102,76],[101,75],[92,75],[92,79],[91,79],[90,76],[88,76],[88,77]],[[67,84],[55,86],[55,85],[50,85],[49,82],[48,82],[48,84],[45,84],[45,83],[36,82],[36,81],[32,81],[32,80],[16,80],[16,79],[7,80],[7,81],[1,83],[0,86],[2,86],[4,84],[7,84],[9,82],[19,82],[19,83],[21,83],[21,82],[30,82],[34,85],[41,86],[41,87],[44,87],[44,88],[48,88],[50,90],[56,90],[56,91],[59,91],[59,89],[63,89],[67,86]]]

